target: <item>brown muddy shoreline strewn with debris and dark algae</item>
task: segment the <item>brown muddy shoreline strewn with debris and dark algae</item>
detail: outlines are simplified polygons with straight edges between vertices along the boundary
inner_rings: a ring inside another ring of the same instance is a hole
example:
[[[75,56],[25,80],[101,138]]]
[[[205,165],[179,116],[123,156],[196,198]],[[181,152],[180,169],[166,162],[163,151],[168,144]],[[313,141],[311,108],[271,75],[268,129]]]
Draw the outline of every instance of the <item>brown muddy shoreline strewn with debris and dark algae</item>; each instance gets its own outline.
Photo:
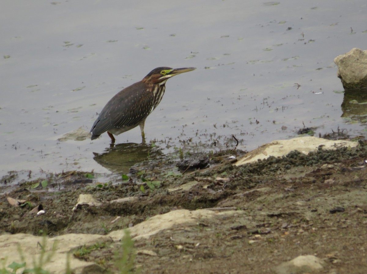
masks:
[[[108,235],[179,209],[237,211],[136,240],[135,248],[156,255],[138,252],[135,270],[272,273],[284,261],[311,254],[325,260],[321,273],[366,272],[363,142],[357,148],[319,149],[308,155],[293,151],[240,167],[228,157],[236,153],[202,154],[210,167],[184,174],[161,161],[142,163],[114,184],[98,183],[97,174],[76,171],[55,175],[52,192],[41,185],[30,189],[34,182],[28,182],[1,198],[0,234]],[[99,204],[79,205],[73,211],[80,194],[91,194]],[[15,207],[7,197],[26,202]],[[128,197],[133,199],[123,199]],[[44,214],[29,213],[40,204]],[[105,245],[81,259],[96,263],[101,273],[111,273],[114,248]]]

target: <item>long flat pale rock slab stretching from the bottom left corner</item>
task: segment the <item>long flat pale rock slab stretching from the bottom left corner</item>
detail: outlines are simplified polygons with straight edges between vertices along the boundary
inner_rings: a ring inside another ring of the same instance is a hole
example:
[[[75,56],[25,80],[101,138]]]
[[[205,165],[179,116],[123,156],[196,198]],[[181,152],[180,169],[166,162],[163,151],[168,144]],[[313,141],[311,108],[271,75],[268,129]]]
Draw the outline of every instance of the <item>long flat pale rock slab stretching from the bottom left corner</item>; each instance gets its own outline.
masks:
[[[87,199],[87,201],[94,201],[94,199]],[[139,240],[141,238],[149,238],[165,229],[196,226],[200,222],[220,224],[224,219],[228,218],[228,216],[243,216],[244,214],[244,211],[241,210],[216,212],[207,209],[195,211],[181,209],[153,216],[128,230],[130,230],[131,237],[134,240]],[[65,268],[67,262],[69,262],[72,273],[75,274],[102,273],[101,267],[95,263],[79,260],[72,254],[68,257],[68,252],[79,246],[93,245],[96,242],[117,242],[120,241],[124,235],[124,230],[116,230],[106,236],[94,234],[65,234],[53,238],[43,238],[28,234],[0,235],[0,258],[4,259],[6,266],[12,262],[23,263],[25,260],[26,268],[32,268],[34,261],[39,262],[42,253],[41,246],[43,246],[45,249],[43,258],[51,256],[51,260],[45,262],[42,268],[50,273],[66,273]],[[149,255],[152,256],[154,255],[154,253],[150,251],[141,252],[145,254],[149,253]]]

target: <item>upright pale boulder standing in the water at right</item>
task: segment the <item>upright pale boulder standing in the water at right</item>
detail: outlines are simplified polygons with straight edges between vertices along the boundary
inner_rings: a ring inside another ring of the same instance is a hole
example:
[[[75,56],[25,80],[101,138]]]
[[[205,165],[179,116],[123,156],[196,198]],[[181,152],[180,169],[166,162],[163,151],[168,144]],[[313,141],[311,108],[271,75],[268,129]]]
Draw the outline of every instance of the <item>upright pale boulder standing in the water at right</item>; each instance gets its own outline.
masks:
[[[334,59],[344,89],[367,88],[367,50],[353,48]]]

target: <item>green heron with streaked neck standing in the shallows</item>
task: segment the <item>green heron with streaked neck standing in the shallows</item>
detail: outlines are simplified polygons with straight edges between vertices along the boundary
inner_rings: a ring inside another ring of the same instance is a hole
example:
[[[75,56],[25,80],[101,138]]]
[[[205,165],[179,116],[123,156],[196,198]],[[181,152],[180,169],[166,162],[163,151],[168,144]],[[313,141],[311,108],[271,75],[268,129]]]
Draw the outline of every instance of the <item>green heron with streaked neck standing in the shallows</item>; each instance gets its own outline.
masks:
[[[143,80],[121,90],[108,101],[99,113],[90,131],[92,133],[91,140],[107,131],[113,144],[115,137],[112,134],[119,135],[139,125],[144,142],[145,119],[162,100],[167,79],[194,69],[195,67],[181,69],[157,67],[149,72]]]

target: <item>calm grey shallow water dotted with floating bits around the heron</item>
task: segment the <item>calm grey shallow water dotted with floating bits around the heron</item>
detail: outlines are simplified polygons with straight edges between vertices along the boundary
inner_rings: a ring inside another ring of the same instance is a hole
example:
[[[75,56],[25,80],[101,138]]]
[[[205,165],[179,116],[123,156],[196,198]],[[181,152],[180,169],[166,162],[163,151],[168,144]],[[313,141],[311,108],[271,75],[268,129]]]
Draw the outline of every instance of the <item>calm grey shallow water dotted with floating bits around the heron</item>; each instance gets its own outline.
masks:
[[[197,67],[167,81],[146,121],[163,153],[232,135],[251,150],[304,125],[365,136],[360,115],[341,107],[333,59],[366,49],[366,11],[361,0],[3,1],[0,176],[110,172],[92,153],[109,147],[106,134],[57,139],[89,131],[113,95],[158,66]],[[141,142],[139,128],[116,142]]]

